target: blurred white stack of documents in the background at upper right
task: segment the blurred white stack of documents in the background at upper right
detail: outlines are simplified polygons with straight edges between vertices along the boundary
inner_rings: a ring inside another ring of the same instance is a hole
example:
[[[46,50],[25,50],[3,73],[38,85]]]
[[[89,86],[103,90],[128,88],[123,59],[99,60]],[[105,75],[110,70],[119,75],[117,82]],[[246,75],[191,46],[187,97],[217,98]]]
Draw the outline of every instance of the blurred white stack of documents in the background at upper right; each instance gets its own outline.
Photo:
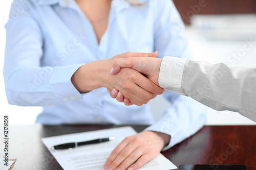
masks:
[[[195,15],[191,27],[211,40],[256,39],[256,14]]]

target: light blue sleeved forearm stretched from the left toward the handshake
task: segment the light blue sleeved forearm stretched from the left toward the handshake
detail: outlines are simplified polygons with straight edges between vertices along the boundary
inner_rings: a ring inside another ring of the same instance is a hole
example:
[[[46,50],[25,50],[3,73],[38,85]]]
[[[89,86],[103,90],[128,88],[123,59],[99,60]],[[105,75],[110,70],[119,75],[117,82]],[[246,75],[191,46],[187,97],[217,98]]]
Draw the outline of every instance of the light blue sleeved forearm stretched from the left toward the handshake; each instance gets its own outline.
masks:
[[[8,102],[20,106],[49,106],[83,99],[70,81],[81,65],[4,69]]]

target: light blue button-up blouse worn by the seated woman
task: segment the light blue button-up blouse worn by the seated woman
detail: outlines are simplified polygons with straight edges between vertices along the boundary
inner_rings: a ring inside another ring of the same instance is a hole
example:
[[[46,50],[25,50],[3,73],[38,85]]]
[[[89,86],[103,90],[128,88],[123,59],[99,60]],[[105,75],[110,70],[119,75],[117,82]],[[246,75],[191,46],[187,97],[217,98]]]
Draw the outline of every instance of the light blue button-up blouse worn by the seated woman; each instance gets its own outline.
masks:
[[[5,28],[8,101],[42,106],[37,123],[152,124],[147,130],[172,136],[167,148],[205,123],[205,107],[186,96],[166,91],[163,95],[171,105],[155,123],[148,105],[125,106],[110,98],[105,88],[80,94],[70,80],[82,64],[129,51],[190,57],[172,1],[151,0],[140,8],[113,0],[108,29],[99,44],[74,0],[14,0]]]

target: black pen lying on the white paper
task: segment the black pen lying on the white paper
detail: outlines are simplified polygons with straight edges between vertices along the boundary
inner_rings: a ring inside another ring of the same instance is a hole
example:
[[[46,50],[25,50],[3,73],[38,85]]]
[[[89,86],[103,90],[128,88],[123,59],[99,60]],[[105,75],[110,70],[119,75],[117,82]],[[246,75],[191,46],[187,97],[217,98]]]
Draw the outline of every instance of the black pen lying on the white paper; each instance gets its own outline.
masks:
[[[51,147],[53,150],[65,150],[65,149],[70,149],[70,148],[77,148],[81,145],[86,145],[86,144],[96,144],[96,143],[101,143],[101,142],[106,142],[110,140],[114,140],[115,137],[106,137],[106,138],[99,138],[99,139],[93,139],[93,140],[88,140],[88,141],[81,141],[81,142],[71,142],[71,143],[62,143],[55,145]]]

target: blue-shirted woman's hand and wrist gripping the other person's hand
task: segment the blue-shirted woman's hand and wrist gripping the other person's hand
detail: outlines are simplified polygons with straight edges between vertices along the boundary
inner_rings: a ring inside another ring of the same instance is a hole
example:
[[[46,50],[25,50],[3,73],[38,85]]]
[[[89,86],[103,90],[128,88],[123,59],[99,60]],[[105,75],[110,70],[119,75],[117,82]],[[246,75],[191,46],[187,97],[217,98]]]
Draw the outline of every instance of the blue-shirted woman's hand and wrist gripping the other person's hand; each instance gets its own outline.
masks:
[[[82,65],[71,78],[76,89],[83,93],[100,87],[117,89],[132,103],[141,106],[146,104],[163,89],[144,77],[140,72],[124,68],[116,75],[110,75],[114,59],[126,57],[156,57],[155,53],[123,53],[110,59],[98,60]]]

